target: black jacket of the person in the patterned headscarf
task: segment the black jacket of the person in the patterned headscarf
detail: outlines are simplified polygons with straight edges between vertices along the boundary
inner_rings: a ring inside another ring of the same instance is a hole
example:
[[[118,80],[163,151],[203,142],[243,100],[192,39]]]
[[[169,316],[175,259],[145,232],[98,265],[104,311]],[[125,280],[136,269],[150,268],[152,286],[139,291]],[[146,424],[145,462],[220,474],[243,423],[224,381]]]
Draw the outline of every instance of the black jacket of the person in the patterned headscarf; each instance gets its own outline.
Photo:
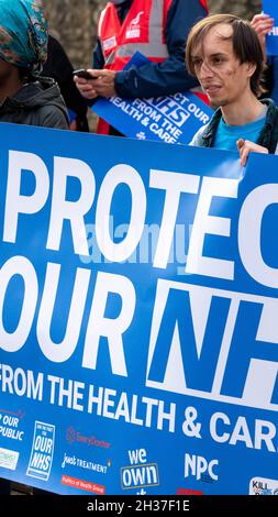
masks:
[[[0,107],[0,122],[68,129],[67,108],[55,80],[40,80],[23,86]]]

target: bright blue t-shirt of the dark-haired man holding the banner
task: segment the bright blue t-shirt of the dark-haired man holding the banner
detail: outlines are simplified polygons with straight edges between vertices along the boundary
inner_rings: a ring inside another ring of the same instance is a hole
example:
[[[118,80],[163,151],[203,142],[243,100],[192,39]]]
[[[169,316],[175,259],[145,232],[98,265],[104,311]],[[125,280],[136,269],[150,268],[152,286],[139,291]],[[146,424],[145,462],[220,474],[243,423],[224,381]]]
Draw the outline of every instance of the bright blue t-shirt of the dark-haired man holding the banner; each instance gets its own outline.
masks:
[[[236,142],[238,139],[251,140],[251,142],[256,143],[259,133],[264,128],[265,121],[266,110],[264,110],[257,120],[244,125],[229,125],[225,124],[223,118],[221,118],[213,142],[213,147],[223,148],[225,151],[237,151]]]

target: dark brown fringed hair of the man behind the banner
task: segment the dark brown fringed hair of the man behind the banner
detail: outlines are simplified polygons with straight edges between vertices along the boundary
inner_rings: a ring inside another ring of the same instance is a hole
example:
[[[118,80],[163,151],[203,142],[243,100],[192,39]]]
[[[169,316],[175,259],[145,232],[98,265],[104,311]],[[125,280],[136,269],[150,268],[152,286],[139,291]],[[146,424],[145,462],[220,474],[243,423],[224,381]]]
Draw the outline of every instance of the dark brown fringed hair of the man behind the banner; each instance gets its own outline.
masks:
[[[252,29],[249,22],[242,20],[234,14],[212,14],[204,18],[192,26],[186,47],[186,66],[188,72],[196,76],[194,65],[192,62],[192,51],[196,46],[202,44],[203,38],[209,31],[220,24],[231,25],[233,33],[231,36],[221,36],[223,40],[231,40],[233,43],[233,51],[241,64],[252,63],[256,65],[256,69],[251,77],[251,89],[255,96],[262,91],[262,74],[264,72],[264,54],[259,43],[259,38]]]

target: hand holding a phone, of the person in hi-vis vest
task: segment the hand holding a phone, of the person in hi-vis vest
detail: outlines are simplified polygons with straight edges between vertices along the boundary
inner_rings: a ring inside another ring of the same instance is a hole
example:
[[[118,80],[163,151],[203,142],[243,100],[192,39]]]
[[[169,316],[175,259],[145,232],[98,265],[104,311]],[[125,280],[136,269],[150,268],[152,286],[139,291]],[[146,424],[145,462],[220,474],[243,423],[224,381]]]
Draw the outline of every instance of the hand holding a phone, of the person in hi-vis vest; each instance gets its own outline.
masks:
[[[114,70],[88,69],[87,72],[92,76],[92,80],[75,77],[76,86],[86,99],[94,99],[98,96],[113,97],[116,95]]]

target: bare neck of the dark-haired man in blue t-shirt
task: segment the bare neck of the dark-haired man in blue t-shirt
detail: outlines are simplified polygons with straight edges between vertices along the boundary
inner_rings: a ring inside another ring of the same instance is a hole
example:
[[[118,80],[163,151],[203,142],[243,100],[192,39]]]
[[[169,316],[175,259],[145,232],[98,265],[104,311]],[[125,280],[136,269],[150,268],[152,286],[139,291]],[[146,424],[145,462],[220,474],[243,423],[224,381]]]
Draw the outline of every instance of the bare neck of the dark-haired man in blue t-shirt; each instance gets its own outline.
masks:
[[[224,122],[229,125],[245,125],[259,118],[264,106],[252,91],[236,102],[221,107]]]

